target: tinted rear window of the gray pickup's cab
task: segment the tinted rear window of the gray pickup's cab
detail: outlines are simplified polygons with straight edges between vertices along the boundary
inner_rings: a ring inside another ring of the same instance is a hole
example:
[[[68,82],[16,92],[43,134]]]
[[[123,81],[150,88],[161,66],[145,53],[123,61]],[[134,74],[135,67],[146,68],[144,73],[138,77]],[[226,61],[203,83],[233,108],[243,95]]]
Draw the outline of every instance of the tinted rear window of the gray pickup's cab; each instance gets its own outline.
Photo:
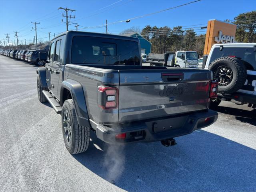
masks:
[[[139,65],[138,43],[119,39],[75,36],[72,41],[71,62]]]

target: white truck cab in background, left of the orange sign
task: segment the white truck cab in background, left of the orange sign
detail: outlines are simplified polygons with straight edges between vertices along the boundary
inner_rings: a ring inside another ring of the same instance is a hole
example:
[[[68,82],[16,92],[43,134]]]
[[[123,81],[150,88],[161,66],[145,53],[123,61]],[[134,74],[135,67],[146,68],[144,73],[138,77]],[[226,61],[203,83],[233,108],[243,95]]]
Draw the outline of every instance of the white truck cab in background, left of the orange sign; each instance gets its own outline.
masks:
[[[177,51],[175,54],[175,67],[197,68],[198,54],[195,51]]]

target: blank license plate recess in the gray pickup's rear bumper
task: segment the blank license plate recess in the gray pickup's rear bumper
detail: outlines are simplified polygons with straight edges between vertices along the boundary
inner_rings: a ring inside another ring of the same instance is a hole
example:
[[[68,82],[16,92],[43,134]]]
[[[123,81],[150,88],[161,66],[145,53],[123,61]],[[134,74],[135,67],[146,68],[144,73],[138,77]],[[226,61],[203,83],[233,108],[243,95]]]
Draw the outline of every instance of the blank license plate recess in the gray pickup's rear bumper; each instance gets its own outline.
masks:
[[[154,133],[166,132],[183,128],[187,121],[187,118],[188,116],[161,119],[146,122],[146,125],[148,126],[148,128],[151,128]]]

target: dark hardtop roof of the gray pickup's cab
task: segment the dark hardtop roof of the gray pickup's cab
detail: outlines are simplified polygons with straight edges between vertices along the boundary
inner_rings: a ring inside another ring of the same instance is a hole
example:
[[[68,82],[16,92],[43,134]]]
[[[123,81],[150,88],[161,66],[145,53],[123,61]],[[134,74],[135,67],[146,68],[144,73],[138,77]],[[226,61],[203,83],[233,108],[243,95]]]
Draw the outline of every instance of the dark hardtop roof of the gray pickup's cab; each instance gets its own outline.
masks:
[[[84,32],[84,31],[66,31],[58,36],[54,37],[51,41],[54,39],[63,36],[65,34],[70,34],[70,35],[77,35],[77,36],[92,36],[92,37],[101,37],[101,38],[113,38],[113,39],[122,39],[122,40],[136,40],[138,41],[138,38],[136,37],[128,37],[128,36],[122,36],[122,35],[112,35],[112,34],[106,34],[106,33],[95,33],[95,32]]]

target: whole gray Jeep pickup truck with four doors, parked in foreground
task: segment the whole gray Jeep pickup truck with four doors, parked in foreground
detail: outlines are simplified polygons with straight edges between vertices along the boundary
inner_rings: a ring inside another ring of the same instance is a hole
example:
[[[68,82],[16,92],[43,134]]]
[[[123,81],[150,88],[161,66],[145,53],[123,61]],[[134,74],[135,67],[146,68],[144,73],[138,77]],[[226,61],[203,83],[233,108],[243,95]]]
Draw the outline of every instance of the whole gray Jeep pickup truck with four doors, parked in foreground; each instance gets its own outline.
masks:
[[[71,154],[87,150],[90,132],[107,143],[170,146],[218,118],[208,109],[217,94],[212,72],[142,66],[138,38],[64,32],[39,59],[38,99],[61,114]]]

